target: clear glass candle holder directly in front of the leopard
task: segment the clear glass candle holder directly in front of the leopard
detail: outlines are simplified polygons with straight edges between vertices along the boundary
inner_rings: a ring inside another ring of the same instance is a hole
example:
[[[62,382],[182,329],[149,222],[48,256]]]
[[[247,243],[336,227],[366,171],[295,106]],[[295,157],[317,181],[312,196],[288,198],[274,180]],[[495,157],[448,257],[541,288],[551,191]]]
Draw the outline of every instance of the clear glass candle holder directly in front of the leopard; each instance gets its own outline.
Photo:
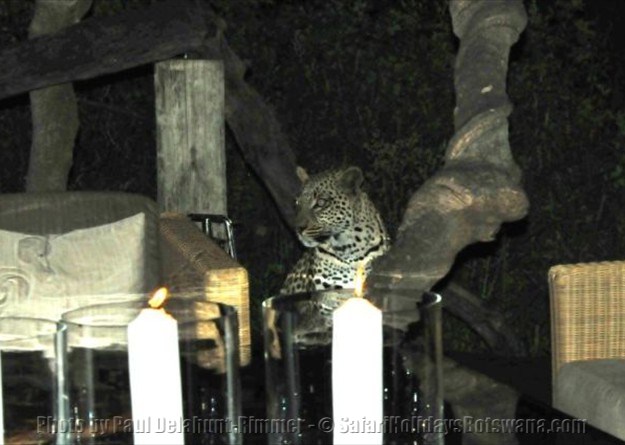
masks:
[[[352,296],[317,291],[263,303],[269,444],[332,444],[334,426],[346,427],[332,417],[332,313]],[[366,298],[382,310],[383,418],[350,419],[349,430],[382,431],[385,445],[442,445],[441,297],[372,290]]]

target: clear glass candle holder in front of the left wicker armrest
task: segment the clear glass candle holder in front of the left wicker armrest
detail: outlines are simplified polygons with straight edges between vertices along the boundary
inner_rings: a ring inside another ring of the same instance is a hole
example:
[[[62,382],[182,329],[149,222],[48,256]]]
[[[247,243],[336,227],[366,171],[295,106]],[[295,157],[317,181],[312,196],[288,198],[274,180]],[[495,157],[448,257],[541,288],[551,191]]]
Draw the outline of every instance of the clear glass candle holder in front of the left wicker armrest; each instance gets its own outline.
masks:
[[[167,430],[165,419],[132,418],[127,329],[146,301],[100,304],[63,314],[73,443],[132,444],[133,428]],[[164,309],[178,322],[183,419],[176,428],[183,428],[185,444],[240,444],[236,310],[183,297],[170,298]],[[153,390],[158,393],[159,388]]]

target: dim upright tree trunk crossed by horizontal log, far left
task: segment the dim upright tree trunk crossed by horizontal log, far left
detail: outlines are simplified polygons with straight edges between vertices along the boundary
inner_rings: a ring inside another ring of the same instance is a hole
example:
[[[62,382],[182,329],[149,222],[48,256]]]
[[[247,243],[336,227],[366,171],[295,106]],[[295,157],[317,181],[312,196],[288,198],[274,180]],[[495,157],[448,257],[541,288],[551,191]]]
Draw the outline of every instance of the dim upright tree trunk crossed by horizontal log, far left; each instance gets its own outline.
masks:
[[[28,35],[32,39],[54,34],[78,22],[90,7],[91,0],[37,0]],[[72,84],[31,91],[30,108],[33,133],[26,191],[65,190],[79,126]]]

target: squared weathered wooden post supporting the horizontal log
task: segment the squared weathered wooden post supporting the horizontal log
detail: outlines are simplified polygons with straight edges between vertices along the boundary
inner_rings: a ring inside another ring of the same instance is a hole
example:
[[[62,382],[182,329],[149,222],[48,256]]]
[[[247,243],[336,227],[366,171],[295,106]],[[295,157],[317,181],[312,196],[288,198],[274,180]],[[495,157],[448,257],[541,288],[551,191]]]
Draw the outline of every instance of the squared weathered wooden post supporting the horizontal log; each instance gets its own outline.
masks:
[[[226,215],[223,63],[175,59],[154,70],[160,209]]]

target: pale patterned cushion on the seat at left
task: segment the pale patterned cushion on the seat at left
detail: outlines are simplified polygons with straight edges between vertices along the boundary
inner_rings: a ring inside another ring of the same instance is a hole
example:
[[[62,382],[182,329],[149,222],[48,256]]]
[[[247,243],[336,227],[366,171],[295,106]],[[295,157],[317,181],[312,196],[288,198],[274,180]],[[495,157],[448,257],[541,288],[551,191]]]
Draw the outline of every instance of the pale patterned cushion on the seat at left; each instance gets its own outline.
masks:
[[[0,230],[0,316],[58,319],[144,292],[145,226],[139,213],[63,234]]]

